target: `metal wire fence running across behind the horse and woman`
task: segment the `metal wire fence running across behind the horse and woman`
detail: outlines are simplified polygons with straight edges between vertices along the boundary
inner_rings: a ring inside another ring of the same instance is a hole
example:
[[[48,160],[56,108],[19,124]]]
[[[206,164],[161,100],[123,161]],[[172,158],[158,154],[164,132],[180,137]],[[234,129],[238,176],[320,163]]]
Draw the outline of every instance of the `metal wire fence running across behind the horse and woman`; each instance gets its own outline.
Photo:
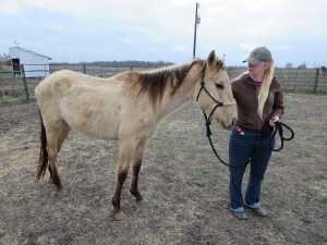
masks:
[[[25,71],[24,65],[21,64],[20,74],[16,71],[10,71],[10,66],[0,71],[0,103],[11,101],[29,101],[34,98],[34,89],[44,77],[29,77],[31,73],[43,71],[44,73],[53,73],[60,70],[72,70],[85,74],[109,77],[128,70],[149,70],[152,68],[112,68],[106,65],[93,64],[50,64],[47,66],[39,65],[39,69],[33,71]],[[245,68],[228,68],[227,73],[231,79],[240,76],[245,72]],[[283,89],[287,91],[296,93],[327,93],[327,74],[320,69],[276,69],[275,76],[281,82]]]

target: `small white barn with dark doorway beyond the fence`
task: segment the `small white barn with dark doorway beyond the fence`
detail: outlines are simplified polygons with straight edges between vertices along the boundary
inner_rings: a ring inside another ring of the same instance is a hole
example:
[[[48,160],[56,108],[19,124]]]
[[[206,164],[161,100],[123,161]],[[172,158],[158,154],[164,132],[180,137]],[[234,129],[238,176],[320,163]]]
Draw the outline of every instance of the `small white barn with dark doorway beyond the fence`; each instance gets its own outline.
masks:
[[[45,77],[50,73],[49,60],[52,60],[50,57],[21,47],[9,48],[9,56],[14,76],[22,76],[22,66],[25,77]]]

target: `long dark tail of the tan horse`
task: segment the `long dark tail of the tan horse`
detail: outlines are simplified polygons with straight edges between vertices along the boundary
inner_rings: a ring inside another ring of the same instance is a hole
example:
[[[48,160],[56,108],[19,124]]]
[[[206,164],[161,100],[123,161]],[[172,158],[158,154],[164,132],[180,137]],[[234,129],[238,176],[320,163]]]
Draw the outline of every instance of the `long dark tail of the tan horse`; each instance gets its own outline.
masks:
[[[41,122],[41,132],[40,132],[40,151],[39,151],[39,161],[38,161],[38,170],[36,179],[39,180],[45,176],[47,167],[48,167],[48,150],[47,150],[47,134],[46,128],[43,120],[43,115],[40,114],[40,122]]]

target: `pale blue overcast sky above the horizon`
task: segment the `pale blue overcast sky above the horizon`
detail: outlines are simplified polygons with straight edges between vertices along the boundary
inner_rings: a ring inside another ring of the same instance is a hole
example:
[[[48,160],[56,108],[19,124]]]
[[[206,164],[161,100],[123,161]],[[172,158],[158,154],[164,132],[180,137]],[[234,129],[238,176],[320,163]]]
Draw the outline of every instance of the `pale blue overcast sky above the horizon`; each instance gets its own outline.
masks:
[[[277,66],[327,65],[327,0],[198,1],[196,57],[240,65],[266,46]],[[0,53],[16,46],[53,62],[193,57],[193,0],[1,0]]]

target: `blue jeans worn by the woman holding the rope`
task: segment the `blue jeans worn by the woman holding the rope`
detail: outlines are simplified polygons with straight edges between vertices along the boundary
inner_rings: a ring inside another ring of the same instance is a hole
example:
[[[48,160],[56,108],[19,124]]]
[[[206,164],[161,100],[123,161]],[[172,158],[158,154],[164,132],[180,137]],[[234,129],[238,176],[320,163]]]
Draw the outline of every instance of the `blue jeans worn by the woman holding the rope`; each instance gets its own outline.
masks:
[[[233,211],[244,210],[242,180],[246,169],[245,164],[250,159],[251,171],[245,194],[245,205],[251,208],[259,206],[262,182],[272,151],[269,147],[272,132],[267,132],[268,135],[262,135],[258,131],[241,130],[244,135],[234,128],[229,138],[229,163],[231,166],[229,168],[229,196],[230,208]],[[271,147],[275,147],[275,138],[271,142]]]

